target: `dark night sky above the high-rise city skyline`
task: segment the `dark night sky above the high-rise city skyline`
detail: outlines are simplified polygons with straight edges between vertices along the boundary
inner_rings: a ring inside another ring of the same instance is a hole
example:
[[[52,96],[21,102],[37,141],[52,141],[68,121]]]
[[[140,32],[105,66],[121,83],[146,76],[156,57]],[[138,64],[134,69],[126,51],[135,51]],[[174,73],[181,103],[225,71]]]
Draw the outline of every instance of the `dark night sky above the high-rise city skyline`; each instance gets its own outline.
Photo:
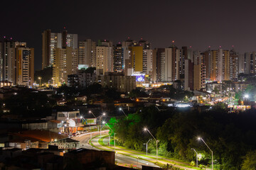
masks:
[[[256,1],[229,0],[105,0],[0,2],[0,37],[27,42],[35,48],[35,69],[41,69],[41,33],[51,29],[77,33],[79,40],[107,39],[114,43],[144,38],[153,47],[194,50],[222,45],[238,52],[256,50]]]

